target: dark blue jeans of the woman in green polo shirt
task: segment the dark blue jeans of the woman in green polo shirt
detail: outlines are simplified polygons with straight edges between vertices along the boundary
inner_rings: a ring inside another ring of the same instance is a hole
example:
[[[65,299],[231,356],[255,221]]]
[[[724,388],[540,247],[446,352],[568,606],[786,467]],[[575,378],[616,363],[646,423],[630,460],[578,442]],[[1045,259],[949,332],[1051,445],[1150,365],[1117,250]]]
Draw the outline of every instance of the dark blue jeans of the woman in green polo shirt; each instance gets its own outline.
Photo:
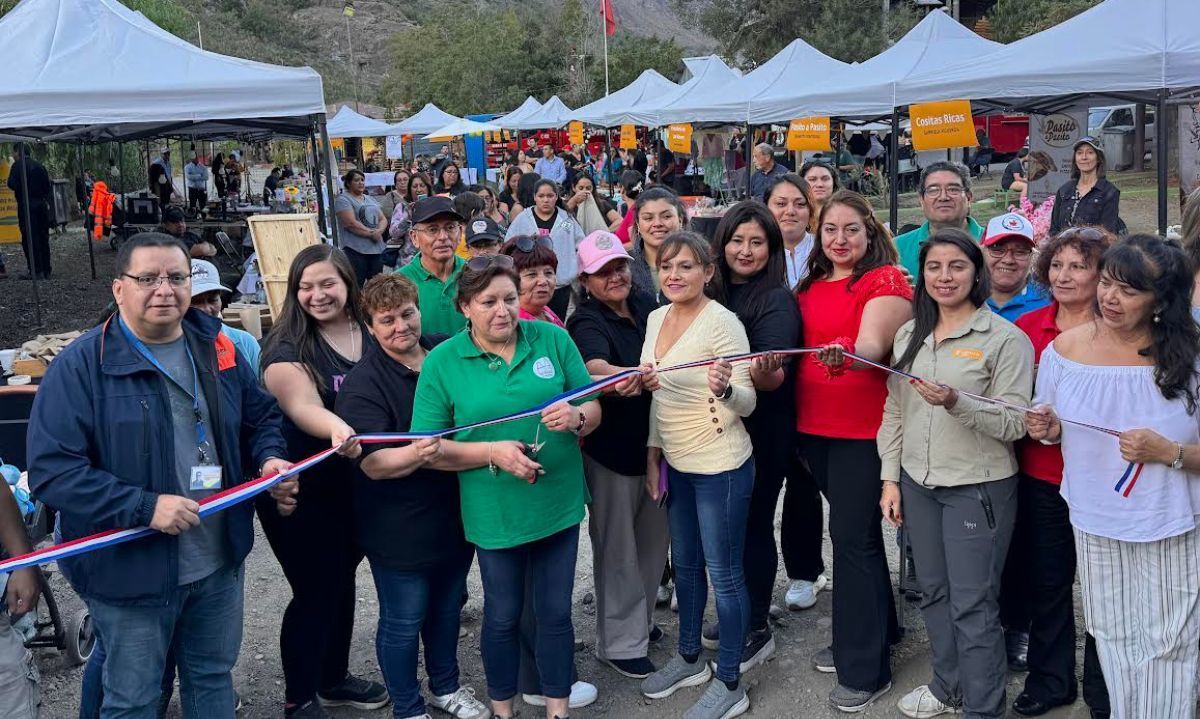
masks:
[[[521,663],[521,609],[526,575],[533,592],[534,642],[541,694],[551,699],[571,695],[575,667],[575,627],[571,624],[571,589],[575,556],[580,547],[578,525],[544,539],[504,550],[478,549],[479,574],[484,580],[484,631],[481,649],[487,695],[508,701],[517,693]]]

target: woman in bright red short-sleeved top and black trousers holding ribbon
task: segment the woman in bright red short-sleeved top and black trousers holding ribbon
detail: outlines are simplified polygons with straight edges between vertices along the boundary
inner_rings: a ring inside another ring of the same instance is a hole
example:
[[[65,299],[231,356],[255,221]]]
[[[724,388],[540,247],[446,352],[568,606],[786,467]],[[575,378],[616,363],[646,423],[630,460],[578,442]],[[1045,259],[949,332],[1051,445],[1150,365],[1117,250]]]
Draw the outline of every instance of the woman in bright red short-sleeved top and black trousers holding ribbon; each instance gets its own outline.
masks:
[[[895,266],[892,235],[857,192],[839,190],[821,209],[820,252],[797,288],[804,346],[822,347],[799,363],[796,430],[800,456],[829,502],[833,646],[817,652],[817,671],[838,672],[829,701],[860,711],[892,688],[889,647],[899,639],[892,579],[883,551],[880,455],[887,375],[851,364],[844,352],[887,363],[900,325],[912,318],[912,288]]]

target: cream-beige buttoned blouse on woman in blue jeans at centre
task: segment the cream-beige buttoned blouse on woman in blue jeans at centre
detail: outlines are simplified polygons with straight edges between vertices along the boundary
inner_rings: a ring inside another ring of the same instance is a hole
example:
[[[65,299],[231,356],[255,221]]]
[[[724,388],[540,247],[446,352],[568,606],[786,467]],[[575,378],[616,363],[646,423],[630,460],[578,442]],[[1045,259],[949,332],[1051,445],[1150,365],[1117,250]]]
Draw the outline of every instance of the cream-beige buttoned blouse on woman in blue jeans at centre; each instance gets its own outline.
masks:
[[[750,352],[745,328],[737,314],[720,302],[709,301],[691,326],[662,356],[654,347],[671,306],[650,312],[646,324],[642,361],[668,367],[701,359]],[[715,474],[737,469],[750,459],[750,435],[742,418],[754,412],[757,395],[750,381],[750,364],[736,363],[728,400],[719,400],[708,389],[708,367],[692,367],[659,375],[660,388],[650,402],[650,436],[647,444],[662,449],[667,461],[680,472]]]

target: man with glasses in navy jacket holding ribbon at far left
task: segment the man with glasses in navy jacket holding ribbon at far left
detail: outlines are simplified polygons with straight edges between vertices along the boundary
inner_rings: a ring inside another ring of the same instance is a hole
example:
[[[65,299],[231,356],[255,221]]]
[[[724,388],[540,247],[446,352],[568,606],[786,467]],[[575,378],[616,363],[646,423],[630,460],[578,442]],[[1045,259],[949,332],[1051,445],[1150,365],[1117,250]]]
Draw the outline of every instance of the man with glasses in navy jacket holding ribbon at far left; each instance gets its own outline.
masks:
[[[178,239],[121,245],[118,313],[55,358],[30,417],[30,489],[64,540],[154,531],[60,561],[107,651],[104,717],[155,717],[173,639],[184,715],[234,715],[253,513],[198,502],[289,466],[275,400],[191,290]]]

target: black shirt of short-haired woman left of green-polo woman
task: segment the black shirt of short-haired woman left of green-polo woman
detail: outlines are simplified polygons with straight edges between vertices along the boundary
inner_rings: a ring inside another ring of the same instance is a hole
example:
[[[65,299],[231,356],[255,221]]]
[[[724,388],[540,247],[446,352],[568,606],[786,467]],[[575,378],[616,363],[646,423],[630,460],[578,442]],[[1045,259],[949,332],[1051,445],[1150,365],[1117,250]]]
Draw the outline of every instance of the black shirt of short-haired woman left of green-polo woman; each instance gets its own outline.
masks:
[[[431,349],[445,335],[421,337]],[[337,394],[338,417],[358,432],[406,432],[419,375],[374,347],[347,375]],[[396,444],[365,444],[362,457]],[[360,459],[361,461],[361,459]],[[396,571],[467,561],[458,478],[421,468],[401,479],[371,479],[354,471],[354,533],[372,564]]]

